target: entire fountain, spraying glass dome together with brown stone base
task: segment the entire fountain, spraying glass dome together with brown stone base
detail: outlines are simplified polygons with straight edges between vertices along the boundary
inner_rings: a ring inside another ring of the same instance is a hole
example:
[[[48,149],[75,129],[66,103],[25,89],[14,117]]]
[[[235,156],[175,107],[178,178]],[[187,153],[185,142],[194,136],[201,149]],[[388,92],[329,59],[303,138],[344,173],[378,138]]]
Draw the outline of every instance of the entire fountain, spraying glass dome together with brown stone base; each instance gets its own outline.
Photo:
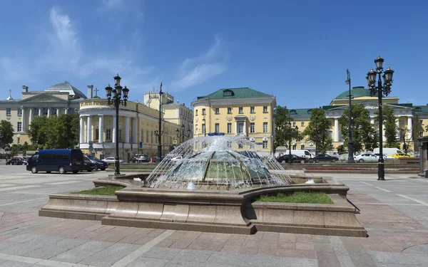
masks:
[[[126,186],[116,197],[51,195],[39,215],[230,234],[258,230],[367,236],[355,206],[347,201],[349,188],[334,179],[310,178],[306,184],[305,177],[291,178],[270,153],[245,138],[198,137],[166,155],[141,182],[94,181],[96,186]],[[326,192],[335,204],[254,202],[262,194],[297,190]]]

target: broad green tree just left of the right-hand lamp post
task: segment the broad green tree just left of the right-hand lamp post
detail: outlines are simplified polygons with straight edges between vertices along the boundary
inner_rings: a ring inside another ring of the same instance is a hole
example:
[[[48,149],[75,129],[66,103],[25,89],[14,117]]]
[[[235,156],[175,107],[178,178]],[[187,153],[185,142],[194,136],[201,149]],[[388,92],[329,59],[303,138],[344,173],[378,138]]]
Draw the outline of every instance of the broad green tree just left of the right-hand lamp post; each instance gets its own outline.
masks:
[[[349,107],[348,107],[349,108]],[[348,146],[348,108],[339,118],[340,132],[344,137],[343,145]],[[352,148],[355,152],[363,149],[373,150],[377,147],[377,135],[370,122],[370,112],[362,104],[352,105]]]

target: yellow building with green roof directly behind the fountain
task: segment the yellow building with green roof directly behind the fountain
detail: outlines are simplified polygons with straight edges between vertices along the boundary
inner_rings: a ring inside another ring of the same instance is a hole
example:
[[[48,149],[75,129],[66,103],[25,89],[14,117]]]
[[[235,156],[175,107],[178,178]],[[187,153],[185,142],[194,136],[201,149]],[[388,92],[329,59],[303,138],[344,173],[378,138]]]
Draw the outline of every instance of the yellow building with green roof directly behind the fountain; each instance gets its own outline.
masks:
[[[193,136],[215,133],[247,138],[260,150],[272,152],[276,99],[251,88],[225,88],[200,96],[193,107]]]

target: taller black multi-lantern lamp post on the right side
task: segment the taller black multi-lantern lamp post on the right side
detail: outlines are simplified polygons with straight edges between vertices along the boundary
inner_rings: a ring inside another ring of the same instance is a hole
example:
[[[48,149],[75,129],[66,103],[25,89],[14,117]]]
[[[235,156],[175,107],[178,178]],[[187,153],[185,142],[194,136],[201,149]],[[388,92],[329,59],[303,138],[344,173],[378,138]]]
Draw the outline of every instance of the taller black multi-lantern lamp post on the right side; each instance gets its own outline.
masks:
[[[367,82],[370,88],[370,95],[373,96],[377,93],[378,99],[378,112],[379,112],[379,162],[377,165],[377,179],[384,181],[385,179],[385,169],[384,169],[384,157],[383,157],[383,140],[382,140],[382,132],[383,132],[383,117],[382,117],[382,94],[386,96],[391,93],[391,85],[392,85],[392,74],[394,74],[394,70],[391,68],[387,68],[387,70],[383,71],[383,62],[384,59],[378,56],[374,63],[376,63],[376,70],[373,68],[367,73]],[[382,75],[382,73],[384,73]],[[376,78],[377,85],[376,85]],[[384,79],[384,84],[382,85],[382,79]]]

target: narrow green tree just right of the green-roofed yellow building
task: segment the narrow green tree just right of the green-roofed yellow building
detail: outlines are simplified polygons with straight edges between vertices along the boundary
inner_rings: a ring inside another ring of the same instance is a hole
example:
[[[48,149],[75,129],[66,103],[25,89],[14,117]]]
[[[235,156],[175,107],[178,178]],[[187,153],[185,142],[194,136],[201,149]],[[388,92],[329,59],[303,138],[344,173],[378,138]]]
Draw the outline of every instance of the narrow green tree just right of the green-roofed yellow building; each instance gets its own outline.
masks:
[[[288,122],[292,121],[290,112],[286,107],[277,105],[273,113],[275,118],[275,148],[276,147],[285,147],[287,146],[288,140],[290,140],[290,130],[288,127]]]

